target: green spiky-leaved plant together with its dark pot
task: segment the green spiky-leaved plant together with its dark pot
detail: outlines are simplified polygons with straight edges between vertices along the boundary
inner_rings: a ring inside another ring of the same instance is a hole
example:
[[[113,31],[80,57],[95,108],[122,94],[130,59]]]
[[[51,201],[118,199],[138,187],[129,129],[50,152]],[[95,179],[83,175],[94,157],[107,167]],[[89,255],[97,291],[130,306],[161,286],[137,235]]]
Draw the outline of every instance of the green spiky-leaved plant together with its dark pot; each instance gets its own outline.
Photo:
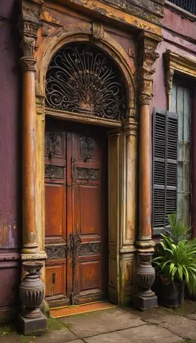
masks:
[[[196,290],[196,239],[189,240],[190,227],[168,216],[171,232],[165,233],[156,246],[153,265],[159,278],[158,300],[167,307],[184,301],[184,284],[190,294]]]

